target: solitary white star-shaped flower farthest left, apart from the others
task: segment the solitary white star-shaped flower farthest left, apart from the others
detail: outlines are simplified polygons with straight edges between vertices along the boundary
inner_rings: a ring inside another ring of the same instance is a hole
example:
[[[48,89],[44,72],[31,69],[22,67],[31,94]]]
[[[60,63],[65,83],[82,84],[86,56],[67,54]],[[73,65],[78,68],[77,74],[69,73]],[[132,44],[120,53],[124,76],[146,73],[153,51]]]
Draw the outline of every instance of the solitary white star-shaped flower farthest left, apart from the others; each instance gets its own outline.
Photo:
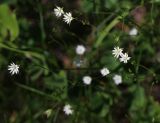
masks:
[[[8,70],[10,71],[11,75],[19,73],[19,65],[11,63],[8,65]]]

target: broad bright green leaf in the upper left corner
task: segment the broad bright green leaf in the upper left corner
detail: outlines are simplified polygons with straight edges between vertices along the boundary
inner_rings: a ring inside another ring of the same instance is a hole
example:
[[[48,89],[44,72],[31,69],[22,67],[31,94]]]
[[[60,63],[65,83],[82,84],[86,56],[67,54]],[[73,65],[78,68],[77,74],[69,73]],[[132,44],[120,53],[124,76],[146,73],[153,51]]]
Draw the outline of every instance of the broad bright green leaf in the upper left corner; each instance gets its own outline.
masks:
[[[7,36],[9,31],[10,41],[13,41],[19,35],[19,27],[15,13],[13,13],[6,4],[0,5],[0,35]]]

